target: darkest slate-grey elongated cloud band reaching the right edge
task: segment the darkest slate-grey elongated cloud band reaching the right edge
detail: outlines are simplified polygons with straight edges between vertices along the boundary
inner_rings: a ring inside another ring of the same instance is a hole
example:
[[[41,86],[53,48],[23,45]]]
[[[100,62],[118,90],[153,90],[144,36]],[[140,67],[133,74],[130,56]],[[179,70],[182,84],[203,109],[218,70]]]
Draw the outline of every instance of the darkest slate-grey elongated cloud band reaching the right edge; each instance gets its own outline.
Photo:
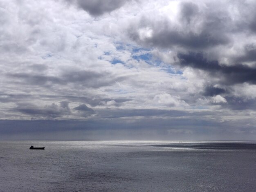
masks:
[[[207,60],[202,53],[188,54],[178,53],[177,58],[183,67],[192,67],[208,71],[212,76],[224,78],[223,84],[234,85],[236,83],[256,84],[256,68],[246,65],[221,65],[217,60]]]

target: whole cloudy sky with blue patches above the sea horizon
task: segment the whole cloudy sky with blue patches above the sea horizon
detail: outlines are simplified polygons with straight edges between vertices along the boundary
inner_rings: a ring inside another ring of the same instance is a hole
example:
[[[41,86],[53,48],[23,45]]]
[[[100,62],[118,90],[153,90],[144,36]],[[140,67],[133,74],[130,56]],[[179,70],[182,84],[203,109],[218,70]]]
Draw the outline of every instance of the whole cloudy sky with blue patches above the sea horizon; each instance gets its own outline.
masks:
[[[0,139],[256,140],[255,0],[0,0]]]

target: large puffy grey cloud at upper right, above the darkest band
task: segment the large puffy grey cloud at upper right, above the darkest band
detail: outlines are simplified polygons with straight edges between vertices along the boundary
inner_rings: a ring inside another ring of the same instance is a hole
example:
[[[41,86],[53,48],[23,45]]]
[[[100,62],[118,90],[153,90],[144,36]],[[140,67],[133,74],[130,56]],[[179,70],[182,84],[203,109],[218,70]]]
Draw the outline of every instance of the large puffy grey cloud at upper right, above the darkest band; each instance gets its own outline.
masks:
[[[196,4],[185,2],[180,4],[179,25],[167,18],[161,21],[149,20],[146,16],[141,19],[138,26],[131,26],[128,35],[132,40],[149,47],[173,48],[173,46],[186,49],[205,49],[217,45],[227,45],[231,42],[227,31],[231,31],[229,23],[231,18],[225,11],[205,8],[199,11]],[[200,29],[195,32],[194,26],[200,23]],[[152,36],[142,38],[139,30],[149,27]]]

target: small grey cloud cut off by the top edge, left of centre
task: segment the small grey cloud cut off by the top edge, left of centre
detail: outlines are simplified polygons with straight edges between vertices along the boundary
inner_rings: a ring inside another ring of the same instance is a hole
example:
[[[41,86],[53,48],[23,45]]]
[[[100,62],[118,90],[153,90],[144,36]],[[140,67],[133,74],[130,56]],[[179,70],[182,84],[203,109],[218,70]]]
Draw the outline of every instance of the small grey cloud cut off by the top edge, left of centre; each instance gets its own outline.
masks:
[[[68,0],[73,2],[73,0]],[[90,13],[92,16],[100,16],[119,9],[129,0],[76,0],[79,7]]]

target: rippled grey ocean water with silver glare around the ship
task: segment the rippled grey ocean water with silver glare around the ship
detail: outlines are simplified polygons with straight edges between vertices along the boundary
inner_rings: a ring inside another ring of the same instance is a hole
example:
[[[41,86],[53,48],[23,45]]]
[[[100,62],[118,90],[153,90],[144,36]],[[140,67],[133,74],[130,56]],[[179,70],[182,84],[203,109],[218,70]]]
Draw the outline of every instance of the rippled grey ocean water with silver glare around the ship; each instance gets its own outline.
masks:
[[[256,143],[0,141],[0,191],[254,192]]]

